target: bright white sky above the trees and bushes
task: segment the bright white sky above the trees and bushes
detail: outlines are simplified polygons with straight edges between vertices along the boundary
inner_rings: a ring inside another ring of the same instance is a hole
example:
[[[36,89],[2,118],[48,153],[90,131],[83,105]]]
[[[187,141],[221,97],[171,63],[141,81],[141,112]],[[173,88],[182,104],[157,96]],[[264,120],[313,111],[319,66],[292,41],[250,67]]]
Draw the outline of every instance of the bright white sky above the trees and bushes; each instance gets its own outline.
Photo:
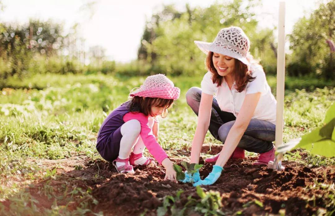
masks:
[[[230,0],[225,0],[230,1]],[[262,0],[258,11],[261,27],[278,24],[280,0]],[[289,34],[293,24],[304,15],[327,0],[286,1],[285,31]],[[191,7],[207,7],[215,0],[96,0],[90,8],[80,8],[92,0],[2,0],[5,8],[0,11],[1,22],[27,23],[29,18],[52,19],[63,22],[68,30],[75,22],[80,24],[80,36],[85,39],[85,49],[94,45],[103,46],[110,60],[128,62],[137,58],[145,21],[152,13],[159,11],[163,4],[175,4],[184,10]],[[224,0],[217,1],[224,2]]]

